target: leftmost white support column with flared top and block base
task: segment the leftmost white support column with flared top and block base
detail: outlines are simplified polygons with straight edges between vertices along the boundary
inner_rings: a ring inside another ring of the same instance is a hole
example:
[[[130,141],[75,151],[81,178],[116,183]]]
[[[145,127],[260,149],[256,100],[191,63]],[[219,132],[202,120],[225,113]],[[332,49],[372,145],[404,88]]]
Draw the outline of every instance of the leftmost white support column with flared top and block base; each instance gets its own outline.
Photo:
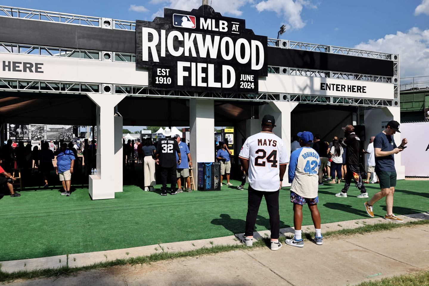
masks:
[[[117,188],[122,190],[122,148],[118,148],[118,125],[122,118],[114,114],[114,108],[126,95],[89,93],[97,105],[97,175],[89,176],[89,194],[92,199],[114,199]],[[113,127],[113,128],[112,128]],[[116,135],[116,136],[115,136]],[[115,138],[116,137],[116,138]],[[121,137],[122,138],[122,132]],[[103,151],[103,152],[102,152]]]

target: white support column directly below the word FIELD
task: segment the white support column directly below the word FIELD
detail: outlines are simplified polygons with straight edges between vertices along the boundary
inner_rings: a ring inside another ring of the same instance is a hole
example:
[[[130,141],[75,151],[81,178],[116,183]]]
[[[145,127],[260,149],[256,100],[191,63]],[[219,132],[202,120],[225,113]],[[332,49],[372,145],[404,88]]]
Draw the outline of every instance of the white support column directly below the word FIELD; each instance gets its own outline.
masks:
[[[215,160],[215,101],[210,99],[189,100],[190,154],[193,163],[193,179],[198,184],[198,162]]]

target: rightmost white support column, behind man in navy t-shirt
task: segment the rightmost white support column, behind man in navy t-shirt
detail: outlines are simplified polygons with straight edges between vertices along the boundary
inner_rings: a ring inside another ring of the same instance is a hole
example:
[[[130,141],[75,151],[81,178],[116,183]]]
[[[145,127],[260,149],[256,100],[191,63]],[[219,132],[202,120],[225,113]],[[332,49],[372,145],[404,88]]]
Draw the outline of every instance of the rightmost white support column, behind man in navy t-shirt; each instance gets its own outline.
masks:
[[[399,107],[382,107],[373,108],[364,111],[365,120],[365,148],[369,144],[369,138],[375,136],[384,130],[384,125],[390,120],[396,120],[401,122],[401,109]],[[399,130],[401,128],[399,127]],[[393,135],[396,145],[401,144],[401,133],[396,132]],[[405,151],[404,151],[405,152]],[[398,180],[405,179],[405,166],[401,165],[401,153],[394,155],[395,157],[395,169]]]

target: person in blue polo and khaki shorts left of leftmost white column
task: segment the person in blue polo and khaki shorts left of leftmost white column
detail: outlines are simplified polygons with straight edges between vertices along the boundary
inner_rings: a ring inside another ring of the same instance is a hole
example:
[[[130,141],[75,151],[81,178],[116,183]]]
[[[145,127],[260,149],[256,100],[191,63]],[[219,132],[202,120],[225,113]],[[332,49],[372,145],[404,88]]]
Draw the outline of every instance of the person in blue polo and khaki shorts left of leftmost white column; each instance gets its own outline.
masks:
[[[61,196],[70,196],[70,185],[73,174],[73,166],[75,165],[76,157],[72,150],[67,149],[67,143],[61,143],[60,154],[57,155],[57,175],[60,176],[60,181],[63,184],[64,192]]]

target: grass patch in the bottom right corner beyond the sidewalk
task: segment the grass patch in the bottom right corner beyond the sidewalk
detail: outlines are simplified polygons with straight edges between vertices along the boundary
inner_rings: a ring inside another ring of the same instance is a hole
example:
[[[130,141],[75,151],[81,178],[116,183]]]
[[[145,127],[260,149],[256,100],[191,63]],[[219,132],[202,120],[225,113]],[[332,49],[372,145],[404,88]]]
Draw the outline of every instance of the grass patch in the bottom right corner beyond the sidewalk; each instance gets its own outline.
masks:
[[[418,271],[411,274],[403,274],[383,278],[378,281],[367,281],[356,286],[421,286],[429,285],[429,270]]]

